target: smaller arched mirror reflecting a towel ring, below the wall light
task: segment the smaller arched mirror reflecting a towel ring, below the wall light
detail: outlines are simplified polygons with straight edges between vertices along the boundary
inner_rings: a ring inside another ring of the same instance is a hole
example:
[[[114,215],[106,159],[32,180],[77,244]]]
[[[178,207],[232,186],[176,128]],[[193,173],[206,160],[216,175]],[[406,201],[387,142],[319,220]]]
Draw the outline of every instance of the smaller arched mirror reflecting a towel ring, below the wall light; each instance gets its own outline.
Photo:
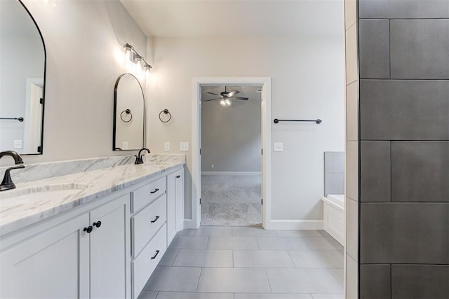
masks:
[[[139,150],[145,145],[145,97],[138,78],[122,74],[114,88],[114,151]]]

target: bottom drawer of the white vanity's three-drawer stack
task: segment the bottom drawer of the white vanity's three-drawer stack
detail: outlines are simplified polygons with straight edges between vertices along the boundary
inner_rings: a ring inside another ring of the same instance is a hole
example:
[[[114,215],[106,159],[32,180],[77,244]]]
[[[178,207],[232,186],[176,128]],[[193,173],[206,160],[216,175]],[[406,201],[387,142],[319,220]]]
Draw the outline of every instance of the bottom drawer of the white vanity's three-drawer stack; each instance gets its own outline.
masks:
[[[139,254],[138,258],[135,258],[131,263],[133,298],[138,298],[140,291],[142,291],[152,272],[156,269],[157,264],[159,264],[163,253],[166,252],[166,246],[167,230],[164,224],[152,241]]]

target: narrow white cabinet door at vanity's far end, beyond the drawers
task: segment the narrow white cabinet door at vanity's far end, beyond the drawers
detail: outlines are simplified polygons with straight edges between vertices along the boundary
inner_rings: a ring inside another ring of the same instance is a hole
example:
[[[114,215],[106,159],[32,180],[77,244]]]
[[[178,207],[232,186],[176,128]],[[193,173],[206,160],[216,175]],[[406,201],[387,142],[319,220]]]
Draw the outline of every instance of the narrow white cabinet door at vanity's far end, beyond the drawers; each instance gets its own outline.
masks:
[[[184,169],[167,175],[167,246],[184,228]]]

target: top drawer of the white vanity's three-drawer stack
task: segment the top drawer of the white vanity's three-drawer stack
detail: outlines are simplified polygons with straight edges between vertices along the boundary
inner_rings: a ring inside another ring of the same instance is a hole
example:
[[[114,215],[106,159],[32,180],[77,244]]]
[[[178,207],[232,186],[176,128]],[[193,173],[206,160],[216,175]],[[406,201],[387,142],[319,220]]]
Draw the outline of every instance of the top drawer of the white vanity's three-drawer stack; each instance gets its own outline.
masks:
[[[166,185],[166,177],[163,176],[161,179],[134,190],[132,192],[133,196],[131,197],[131,213],[135,213],[142,209],[142,207],[145,207],[157,197],[161,196],[161,194],[165,193],[167,188]]]

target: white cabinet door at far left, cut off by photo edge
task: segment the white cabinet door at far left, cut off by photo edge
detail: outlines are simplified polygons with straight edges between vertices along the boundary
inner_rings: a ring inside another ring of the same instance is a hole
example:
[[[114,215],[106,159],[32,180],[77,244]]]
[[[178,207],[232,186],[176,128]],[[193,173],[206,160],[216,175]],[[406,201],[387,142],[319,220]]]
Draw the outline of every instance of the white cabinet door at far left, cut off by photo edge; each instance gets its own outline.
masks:
[[[0,298],[88,298],[88,214],[0,254]]]

